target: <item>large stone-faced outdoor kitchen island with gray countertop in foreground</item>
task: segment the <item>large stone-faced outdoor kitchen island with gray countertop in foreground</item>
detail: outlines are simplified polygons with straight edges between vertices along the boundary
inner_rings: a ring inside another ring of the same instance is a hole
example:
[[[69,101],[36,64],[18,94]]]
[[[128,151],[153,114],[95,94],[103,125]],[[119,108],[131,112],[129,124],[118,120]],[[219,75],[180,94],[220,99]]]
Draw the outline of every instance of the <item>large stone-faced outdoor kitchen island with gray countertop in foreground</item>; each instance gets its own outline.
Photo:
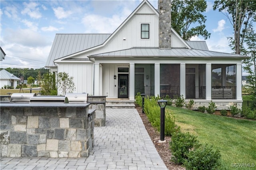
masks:
[[[88,157],[94,146],[89,103],[1,103],[1,153],[7,157]]]

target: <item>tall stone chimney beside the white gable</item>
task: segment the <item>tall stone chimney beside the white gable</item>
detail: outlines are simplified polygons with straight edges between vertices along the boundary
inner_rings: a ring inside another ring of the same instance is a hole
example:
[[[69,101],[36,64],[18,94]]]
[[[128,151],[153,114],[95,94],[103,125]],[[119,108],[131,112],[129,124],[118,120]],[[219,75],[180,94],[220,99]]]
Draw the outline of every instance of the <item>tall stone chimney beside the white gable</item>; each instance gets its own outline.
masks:
[[[158,0],[159,48],[170,49],[171,42],[171,0]]]

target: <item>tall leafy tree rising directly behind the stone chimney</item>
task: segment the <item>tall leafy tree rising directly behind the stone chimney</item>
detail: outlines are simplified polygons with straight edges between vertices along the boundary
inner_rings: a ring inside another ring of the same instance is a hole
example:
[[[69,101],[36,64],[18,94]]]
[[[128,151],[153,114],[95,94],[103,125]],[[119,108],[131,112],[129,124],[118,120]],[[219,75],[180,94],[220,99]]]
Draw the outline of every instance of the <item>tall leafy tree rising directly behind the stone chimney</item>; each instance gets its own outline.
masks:
[[[201,35],[204,39],[210,38],[210,33],[205,29],[207,4],[205,0],[172,0],[172,28],[177,31],[184,40],[189,40],[195,35]],[[193,27],[192,25],[198,24]]]

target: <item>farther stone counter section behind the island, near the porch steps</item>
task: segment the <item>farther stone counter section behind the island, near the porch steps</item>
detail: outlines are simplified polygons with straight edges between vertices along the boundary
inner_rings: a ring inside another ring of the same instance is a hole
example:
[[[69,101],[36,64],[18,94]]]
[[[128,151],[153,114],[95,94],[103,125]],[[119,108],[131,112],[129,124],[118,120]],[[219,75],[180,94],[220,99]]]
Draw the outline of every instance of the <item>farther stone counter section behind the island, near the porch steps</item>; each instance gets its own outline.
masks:
[[[89,109],[95,109],[95,126],[105,126],[106,122],[106,96],[88,96]]]

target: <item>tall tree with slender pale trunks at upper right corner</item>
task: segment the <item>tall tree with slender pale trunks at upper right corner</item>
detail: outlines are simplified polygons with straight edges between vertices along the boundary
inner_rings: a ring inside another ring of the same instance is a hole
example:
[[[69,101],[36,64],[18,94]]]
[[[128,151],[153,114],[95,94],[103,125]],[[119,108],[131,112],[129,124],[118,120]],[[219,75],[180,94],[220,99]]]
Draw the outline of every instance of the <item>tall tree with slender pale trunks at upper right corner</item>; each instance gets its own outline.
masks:
[[[250,20],[256,20],[255,0],[215,0],[213,9],[219,9],[234,28],[234,37],[229,37],[230,46],[236,54],[241,53],[244,31]]]

